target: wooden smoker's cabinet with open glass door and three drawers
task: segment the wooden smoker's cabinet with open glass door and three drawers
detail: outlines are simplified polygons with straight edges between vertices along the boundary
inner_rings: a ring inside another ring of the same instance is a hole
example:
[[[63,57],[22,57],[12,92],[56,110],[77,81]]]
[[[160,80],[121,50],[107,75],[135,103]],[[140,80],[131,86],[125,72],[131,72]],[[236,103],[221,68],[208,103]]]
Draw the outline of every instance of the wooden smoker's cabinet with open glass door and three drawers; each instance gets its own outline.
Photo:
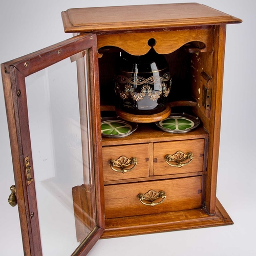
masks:
[[[24,253],[86,255],[99,238],[232,224],[216,180],[226,24],[242,21],[195,3],[69,9],[62,20],[73,38],[1,66]],[[171,111],[200,125],[172,134],[153,118],[102,137],[119,53],[152,47],[168,62]]]

